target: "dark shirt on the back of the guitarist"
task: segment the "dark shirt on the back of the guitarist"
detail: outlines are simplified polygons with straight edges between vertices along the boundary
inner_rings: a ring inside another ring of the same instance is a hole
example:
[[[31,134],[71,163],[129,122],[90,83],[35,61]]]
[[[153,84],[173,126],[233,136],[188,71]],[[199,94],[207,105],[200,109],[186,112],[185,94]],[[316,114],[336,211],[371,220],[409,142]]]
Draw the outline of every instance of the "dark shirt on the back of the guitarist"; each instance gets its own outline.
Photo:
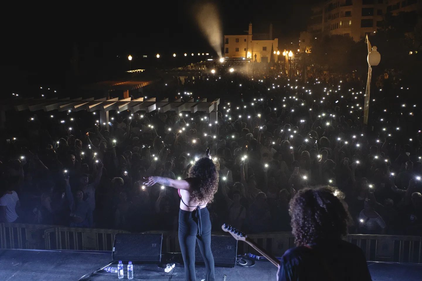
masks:
[[[370,281],[362,250],[343,240],[321,241],[287,250],[277,280]]]

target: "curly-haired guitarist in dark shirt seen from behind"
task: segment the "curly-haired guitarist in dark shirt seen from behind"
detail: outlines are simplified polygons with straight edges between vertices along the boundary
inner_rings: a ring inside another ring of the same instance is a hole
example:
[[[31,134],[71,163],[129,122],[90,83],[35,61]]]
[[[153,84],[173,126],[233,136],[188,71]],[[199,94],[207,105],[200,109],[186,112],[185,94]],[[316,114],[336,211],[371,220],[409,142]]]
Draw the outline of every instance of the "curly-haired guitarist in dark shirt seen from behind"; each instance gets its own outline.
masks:
[[[342,240],[349,213],[333,189],[302,189],[289,203],[297,247],[287,250],[277,280],[371,281],[362,250]]]

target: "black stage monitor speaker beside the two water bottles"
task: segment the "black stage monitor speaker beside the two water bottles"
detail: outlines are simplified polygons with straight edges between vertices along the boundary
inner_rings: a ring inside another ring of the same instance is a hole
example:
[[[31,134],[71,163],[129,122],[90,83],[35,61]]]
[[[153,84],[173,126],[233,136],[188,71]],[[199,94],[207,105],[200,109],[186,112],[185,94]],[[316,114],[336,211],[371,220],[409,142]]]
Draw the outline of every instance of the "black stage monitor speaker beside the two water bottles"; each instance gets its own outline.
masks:
[[[161,233],[117,233],[114,236],[113,260],[144,263],[161,262]]]

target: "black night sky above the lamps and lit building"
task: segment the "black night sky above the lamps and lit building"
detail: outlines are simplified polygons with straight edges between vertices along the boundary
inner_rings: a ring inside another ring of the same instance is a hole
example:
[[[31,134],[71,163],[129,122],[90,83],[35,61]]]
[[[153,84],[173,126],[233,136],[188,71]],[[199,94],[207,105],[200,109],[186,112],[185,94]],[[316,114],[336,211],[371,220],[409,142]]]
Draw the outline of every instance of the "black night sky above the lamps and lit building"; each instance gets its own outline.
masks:
[[[265,0],[214,1],[221,14],[223,33],[242,34],[249,22],[254,32],[264,33],[273,23],[273,36],[279,38],[280,45],[297,40],[299,32],[306,30],[309,4],[315,3],[291,2],[294,4]],[[83,82],[89,82],[109,79],[116,71],[129,68],[128,54],[134,57],[132,68],[145,68],[143,54],[151,60],[157,53],[162,57],[174,52],[214,54],[192,16],[192,1],[140,3],[4,10],[0,19],[4,30],[0,64],[4,81],[2,95],[41,85],[68,87],[72,81],[69,77],[75,73],[72,59],[77,62]],[[177,63],[184,65],[191,61],[193,57]]]

